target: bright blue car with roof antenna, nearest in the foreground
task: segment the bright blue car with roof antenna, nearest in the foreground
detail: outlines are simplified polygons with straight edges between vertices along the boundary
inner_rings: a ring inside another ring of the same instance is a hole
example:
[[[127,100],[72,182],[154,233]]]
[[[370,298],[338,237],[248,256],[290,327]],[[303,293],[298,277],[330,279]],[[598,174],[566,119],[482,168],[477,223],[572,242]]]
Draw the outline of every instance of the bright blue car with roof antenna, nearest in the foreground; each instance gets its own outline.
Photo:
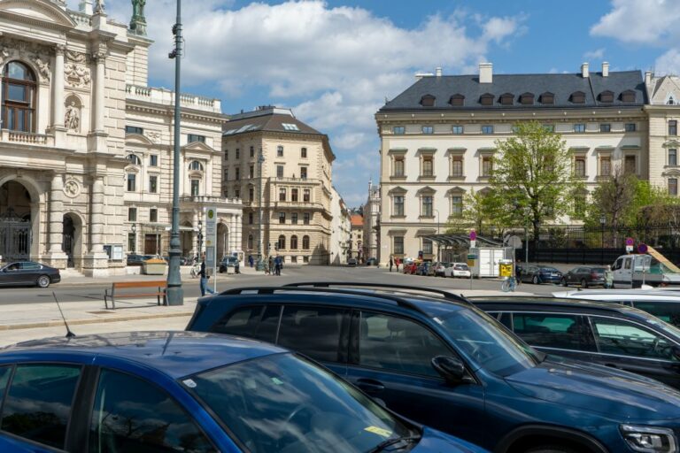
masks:
[[[481,452],[414,425],[305,357],[142,332],[0,350],[0,451]]]

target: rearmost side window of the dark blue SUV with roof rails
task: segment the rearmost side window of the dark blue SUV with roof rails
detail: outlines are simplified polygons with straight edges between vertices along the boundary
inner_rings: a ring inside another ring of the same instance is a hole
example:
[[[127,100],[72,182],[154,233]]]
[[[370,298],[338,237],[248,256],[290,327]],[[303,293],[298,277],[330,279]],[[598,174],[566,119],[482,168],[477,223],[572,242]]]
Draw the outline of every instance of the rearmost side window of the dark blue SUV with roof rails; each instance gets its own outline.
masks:
[[[276,341],[281,305],[254,305],[228,312],[210,331],[218,334],[240,335],[263,342]]]

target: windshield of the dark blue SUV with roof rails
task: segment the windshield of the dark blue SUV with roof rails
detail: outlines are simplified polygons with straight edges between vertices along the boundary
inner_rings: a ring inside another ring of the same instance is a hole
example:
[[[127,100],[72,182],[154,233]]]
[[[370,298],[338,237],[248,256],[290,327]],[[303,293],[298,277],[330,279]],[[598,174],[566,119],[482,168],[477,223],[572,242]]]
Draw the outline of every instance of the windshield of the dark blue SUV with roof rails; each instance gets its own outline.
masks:
[[[472,310],[452,311],[435,321],[453,342],[484,369],[499,376],[533,368],[542,354],[531,349],[496,319]]]

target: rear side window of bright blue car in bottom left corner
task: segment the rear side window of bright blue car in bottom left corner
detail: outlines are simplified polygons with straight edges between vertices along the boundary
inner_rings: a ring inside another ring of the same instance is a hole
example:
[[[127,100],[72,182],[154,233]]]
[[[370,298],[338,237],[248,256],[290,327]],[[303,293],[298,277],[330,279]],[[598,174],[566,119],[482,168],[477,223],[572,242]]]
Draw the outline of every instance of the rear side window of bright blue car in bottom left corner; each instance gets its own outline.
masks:
[[[80,375],[80,366],[18,365],[4,401],[0,430],[63,449]]]

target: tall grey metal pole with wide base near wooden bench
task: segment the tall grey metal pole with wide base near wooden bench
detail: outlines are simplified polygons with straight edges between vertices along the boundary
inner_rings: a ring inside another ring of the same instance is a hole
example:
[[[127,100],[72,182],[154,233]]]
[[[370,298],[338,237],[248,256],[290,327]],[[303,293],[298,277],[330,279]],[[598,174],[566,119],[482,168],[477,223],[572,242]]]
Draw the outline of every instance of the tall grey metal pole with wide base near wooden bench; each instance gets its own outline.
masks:
[[[177,0],[177,22],[173,27],[174,50],[169,57],[174,58],[174,161],[173,161],[173,226],[170,234],[170,267],[167,272],[166,301],[168,305],[182,305],[184,290],[180,275],[180,104],[182,62],[182,0]]]

